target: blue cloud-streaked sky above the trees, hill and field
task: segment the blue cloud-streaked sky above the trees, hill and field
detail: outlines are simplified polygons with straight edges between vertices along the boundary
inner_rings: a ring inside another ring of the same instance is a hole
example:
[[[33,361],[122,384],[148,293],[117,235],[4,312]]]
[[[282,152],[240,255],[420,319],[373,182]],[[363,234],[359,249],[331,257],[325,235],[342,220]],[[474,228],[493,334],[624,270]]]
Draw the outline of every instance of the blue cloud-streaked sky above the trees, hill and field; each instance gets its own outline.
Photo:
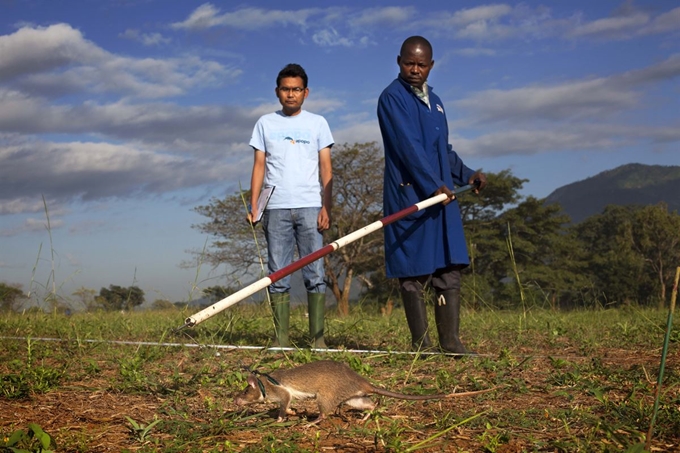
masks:
[[[278,108],[278,71],[305,67],[305,108],[336,143],[380,143],[377,98],[411,35],[433,44],[454,149],[528,179],[525,195],[631,162],[680,165],[675,1],[0,0],[0,12],[0,281],[36,294],[134,284],[152,302],[233,284],[180,266],[210,240],[192,208],[248,187],[247,143]]]

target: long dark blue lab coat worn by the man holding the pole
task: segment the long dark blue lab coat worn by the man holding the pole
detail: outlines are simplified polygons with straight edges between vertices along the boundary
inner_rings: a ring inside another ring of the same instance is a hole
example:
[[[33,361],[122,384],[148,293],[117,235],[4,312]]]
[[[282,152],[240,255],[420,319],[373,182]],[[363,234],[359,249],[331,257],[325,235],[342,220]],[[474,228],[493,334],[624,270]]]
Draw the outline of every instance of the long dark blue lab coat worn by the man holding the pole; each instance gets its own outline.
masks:
[[[386,216],[433,196],[442,185],[454,190],[455,186],[468,184],[474,174],[449,144],[444,104],[431,88],[429,96],[431,109],[399,77],[380,95],[378,121],[385,147]],[[384,235],[390,278],[429,275],[452,264],[470,264],[455,200],[387,225]]]

